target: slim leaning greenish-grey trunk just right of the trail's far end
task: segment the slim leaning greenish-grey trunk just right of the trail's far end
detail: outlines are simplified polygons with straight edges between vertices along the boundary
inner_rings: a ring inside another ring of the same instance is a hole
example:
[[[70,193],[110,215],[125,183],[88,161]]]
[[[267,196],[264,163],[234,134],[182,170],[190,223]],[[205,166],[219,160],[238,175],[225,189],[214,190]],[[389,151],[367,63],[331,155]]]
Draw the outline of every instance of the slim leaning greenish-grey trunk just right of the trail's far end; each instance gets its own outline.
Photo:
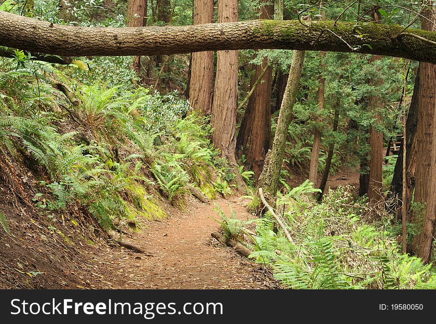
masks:
[[[280,178],[280,170],[283,164],[286,138],[298,86],[300,84],[301,73],[303,71],[305,54],[306,52],[304,51],[294,51],[291,68],[289,70],[288,83],[286,85],[280,113],[278,115],[272,149],[267,154],[264,169],[262,170],[262,174],[258,181],[258,188],[263,188],[265,193],[269,193],[272,196],[275,196],[278,189],[278,180]]]

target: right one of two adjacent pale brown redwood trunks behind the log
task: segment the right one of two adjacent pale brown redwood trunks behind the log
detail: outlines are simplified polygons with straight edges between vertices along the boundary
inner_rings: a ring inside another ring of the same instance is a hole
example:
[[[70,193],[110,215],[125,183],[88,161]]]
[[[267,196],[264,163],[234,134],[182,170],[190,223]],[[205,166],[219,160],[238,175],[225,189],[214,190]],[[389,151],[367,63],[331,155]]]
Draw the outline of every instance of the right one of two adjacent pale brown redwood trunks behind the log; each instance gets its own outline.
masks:
[[[238,20],[238,1],[218,1],[218,22]],[[236,107],[238,95],[238,51],[218,51],[214,102],[212,105],[212,142],[221,155],[236,165]]]

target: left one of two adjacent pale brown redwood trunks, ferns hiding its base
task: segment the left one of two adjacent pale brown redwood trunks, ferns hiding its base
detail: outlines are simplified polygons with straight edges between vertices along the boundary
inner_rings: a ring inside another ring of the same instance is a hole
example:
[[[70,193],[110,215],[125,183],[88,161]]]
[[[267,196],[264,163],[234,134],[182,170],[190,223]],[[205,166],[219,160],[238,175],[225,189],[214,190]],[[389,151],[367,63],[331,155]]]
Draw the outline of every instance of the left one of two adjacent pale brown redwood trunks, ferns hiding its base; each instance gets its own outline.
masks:
[[[214,22],[214,0],[194,1],[194,25]],[[214,52],[191,54],[189,102],[195,111],[210,115],[214,91]]]

